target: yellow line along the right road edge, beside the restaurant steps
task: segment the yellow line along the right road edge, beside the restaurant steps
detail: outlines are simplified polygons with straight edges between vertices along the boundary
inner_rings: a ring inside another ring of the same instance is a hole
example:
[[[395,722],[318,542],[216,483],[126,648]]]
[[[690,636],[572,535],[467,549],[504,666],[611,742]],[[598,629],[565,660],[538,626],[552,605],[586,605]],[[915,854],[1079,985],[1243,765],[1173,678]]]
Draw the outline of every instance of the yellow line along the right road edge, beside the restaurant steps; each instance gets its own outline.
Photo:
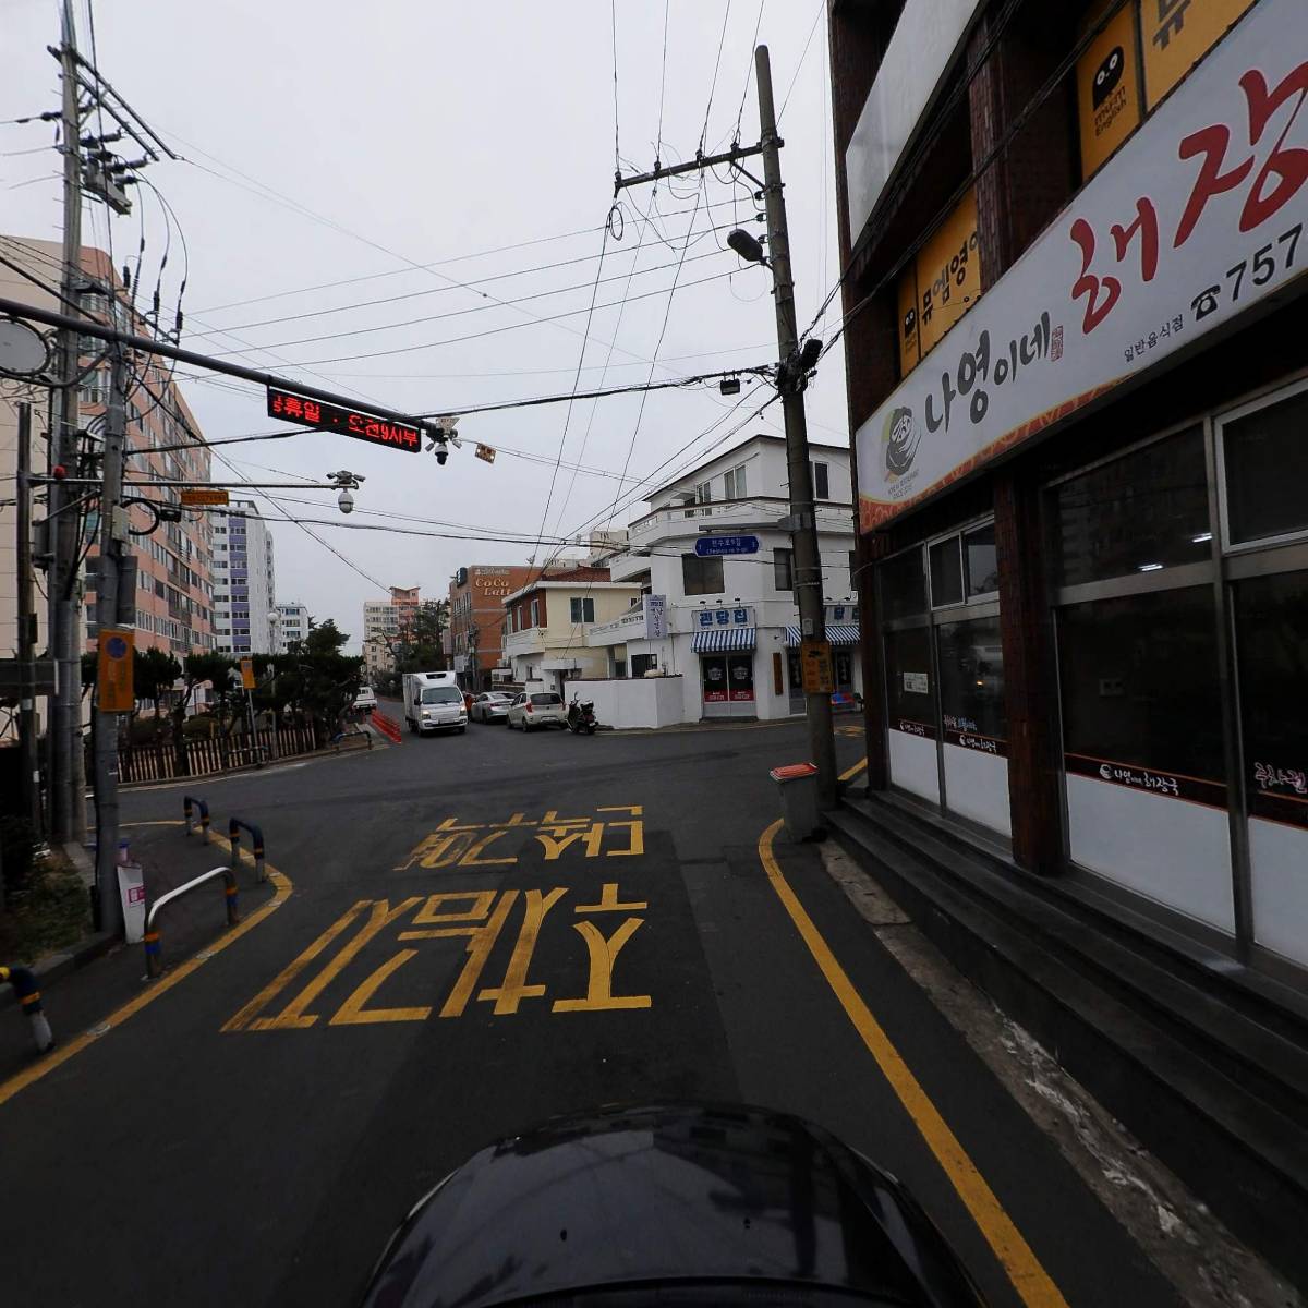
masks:
[[[866,763],[865,759],[861,764],[855,764],[841,780],[852,777]],[[780,829],[781,819],[778,818],[759,837],[759,861],[768,874],[772,888],[777,892],[777,899],[790,914],[791,922],[794,922],[804,944],[808,946],[808,952],[812,954],[821,974],[827,978],[827,984],[845,1010],[845,1015],[854,1024],[854,1029],[876,1061],[876,1066],[882,1070],[891,1090],[895,1091],[899,1101],[913,1118],[913,1124],[927,1148],[935,1155],[935,1160],[950,1179],[950,1184],[972,1215],[972,1220],[976,1222],[986,1243],[994,1250],[994,1256],[999,1260],[1022,1301],[1027,1308],[1067,1308],[1067,1301],[1041,1266],[1031,1245],[1014,1226],[994,1190],[977,1171],[976,1164],[959,1143],[939,1109],[931,1103],[921,1082],[909,1070],[900,1052],[891,1044],[880,1023],[872,1016],[871,1010],[854,989],[853,982],[836,960],[803,904],[790,888],[790,883],[772,852],[772,841]]]

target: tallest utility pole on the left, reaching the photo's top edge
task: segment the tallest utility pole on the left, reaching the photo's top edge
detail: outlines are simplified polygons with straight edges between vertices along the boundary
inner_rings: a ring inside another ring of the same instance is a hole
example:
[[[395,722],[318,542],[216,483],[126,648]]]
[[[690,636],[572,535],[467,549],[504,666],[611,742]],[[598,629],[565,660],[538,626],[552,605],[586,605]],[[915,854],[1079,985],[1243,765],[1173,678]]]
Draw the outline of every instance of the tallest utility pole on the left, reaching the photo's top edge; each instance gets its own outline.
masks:
[[[81,296],[81,115],[77,110],[77,31],[72,0],[64,0],[59,63],[63,78],[60,137],[64,156],[64,263],[61,294],[64,306],[80,303]],[[73,468],[77,456],[80,421],[77,387],[78,340],[75,327],[59,332],[59,387],[55,400],[55,426],[50,434],[50,462]],[[58,483],[50,488],[50,653],[55,659],[58,683],[50,700],[47,791],[50,798],[50,837],[52,841],[77,840],[84,835],[86,816],[82,800],[82,772],[75,757],[73,740],[81,739],[81,659],[77,649],[77,515],[63,513],[71,494]],[[80,744],[77,747],[80,752]]]

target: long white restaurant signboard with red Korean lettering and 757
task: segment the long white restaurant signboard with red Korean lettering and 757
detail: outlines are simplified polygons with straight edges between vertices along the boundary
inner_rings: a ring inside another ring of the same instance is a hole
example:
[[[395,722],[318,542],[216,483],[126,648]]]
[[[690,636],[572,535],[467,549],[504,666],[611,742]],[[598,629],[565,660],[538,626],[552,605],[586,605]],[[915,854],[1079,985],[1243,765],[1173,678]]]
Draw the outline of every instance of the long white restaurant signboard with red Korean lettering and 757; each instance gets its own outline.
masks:
[[[872,531],[1308,268],[1304,0],[1261,0],[858,429]]]

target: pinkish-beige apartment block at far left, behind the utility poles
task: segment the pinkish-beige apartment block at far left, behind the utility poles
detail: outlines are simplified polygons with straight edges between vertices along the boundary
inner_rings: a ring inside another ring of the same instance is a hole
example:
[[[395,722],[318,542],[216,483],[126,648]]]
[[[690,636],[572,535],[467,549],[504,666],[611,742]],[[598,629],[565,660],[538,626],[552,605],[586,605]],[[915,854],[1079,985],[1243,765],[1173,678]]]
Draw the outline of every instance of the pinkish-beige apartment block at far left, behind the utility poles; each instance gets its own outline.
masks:
[[[54,294],[35,285],[35,277],[47,286],[60,281],[63,247],[51,241],[3,237],[5,258],[27,272],[25,277],[10,268],[0,268],[0,289],[5,297],[26,301],[37,307],[59,309]],[[81,307],[99,322],[115,322],[124,330],[148,335],[144,319],[129,305],[129,297],[102,250],[84,249],[81,267],[85,272]],[[101,345],[86,337],[82,343],[81,366],[88,369],[78,388],[78,412],[82,429],[97,433],[109,400],[107,364],[95,366]],[[47,432],[47,392],[31,386],[0,381],[0,477],[13,484],[17,437],[16,402],[26,398],[33,404],[33,471],[50,470]],[[127,442],[124,450],[128,481],[179,480],[205,483],[209,479],[209,450],[199,424],[186,404],[170,371],[157,361],[135,357],[127,398]],[[98,467],[98,464],[94,464]],[[158,487],[148,492],[158,504],[175,506],[178,492]],[[215,649],[212,526],[204,511],[184,511],[181,522],[160,523],[150,531],[153,514],[141,505],[128,506],[131,528],[140,535],[131,538],[127,553],[136,566],[132,596],[120,596],[119,615],[136,627],[137,649],[161,649],[178,659],[191,653]],[[41,501],[34,506],[39,519]],[[93,649],[99,613],[95,607],[95,560],[98,557],[99,515],[85,513],[81,521],[88,542],[84,569],[86,647]],[[0,646],[12,649],[17,642],[13,509],[0,506]],[[38,600],[38,647],[46,642],[44,604]]]

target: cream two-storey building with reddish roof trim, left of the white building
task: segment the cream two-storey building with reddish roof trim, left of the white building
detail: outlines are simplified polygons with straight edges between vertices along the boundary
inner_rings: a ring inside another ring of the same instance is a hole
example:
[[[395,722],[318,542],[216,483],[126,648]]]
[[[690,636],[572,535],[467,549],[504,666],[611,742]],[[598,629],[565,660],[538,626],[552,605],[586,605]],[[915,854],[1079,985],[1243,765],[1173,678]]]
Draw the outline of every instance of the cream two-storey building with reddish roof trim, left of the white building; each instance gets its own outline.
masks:
[[[569,680],[604,675],[604,650],[593,649],[586,633],[640,603],[637,582],[619,582],[607,568],[560,562],[502,600],[504,657],[511,680],[539,683],[564,693]]]

